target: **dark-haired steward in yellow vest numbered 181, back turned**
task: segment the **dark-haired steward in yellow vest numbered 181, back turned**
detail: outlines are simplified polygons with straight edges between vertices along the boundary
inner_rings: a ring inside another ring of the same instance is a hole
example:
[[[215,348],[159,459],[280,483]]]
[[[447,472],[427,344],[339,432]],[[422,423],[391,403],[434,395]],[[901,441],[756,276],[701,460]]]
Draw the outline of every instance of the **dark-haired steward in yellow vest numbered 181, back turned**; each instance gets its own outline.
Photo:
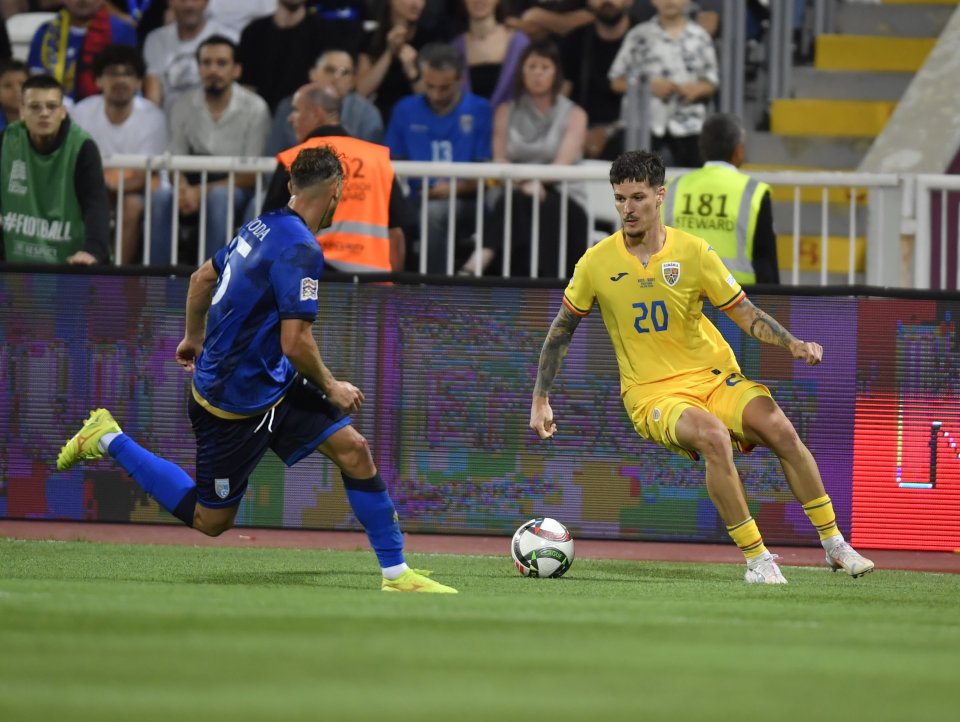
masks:
[[[704,167],[667,187],[663,222],[710,243],[741,284],[779,283],[770,186],[741,173],[743,125],[718,113],[700,134]]]

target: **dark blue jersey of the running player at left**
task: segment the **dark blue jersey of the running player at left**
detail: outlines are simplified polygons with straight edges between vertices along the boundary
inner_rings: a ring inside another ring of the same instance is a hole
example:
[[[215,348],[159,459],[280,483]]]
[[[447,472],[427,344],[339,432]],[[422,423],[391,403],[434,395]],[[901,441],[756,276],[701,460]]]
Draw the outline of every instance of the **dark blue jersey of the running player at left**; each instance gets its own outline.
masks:
[[[280,322],[317,317],[323,251],[296,213],[250,221],[213,258],[219,278],[207,314],[194,398],[216,416],[254,416],[278,403],[296,371],[280,345]]]

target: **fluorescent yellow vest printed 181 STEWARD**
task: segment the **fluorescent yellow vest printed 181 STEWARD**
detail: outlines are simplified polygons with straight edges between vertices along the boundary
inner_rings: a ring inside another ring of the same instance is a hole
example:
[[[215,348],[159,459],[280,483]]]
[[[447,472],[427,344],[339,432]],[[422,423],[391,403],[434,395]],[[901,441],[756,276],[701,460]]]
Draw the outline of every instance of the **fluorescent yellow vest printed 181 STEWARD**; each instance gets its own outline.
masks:
[[[663,222],[709,242],[739,283],[756,283],[753,238],[769,190],[733,168],[704,166],[667,188]]]

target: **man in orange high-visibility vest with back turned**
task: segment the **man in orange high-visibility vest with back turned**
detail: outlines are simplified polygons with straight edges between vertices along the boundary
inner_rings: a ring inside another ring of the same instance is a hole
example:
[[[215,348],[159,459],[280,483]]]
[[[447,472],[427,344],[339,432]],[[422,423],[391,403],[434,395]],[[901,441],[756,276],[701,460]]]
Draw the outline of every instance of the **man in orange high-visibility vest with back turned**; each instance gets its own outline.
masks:
[[[290,165],[302,149],[331,146],[341,156],[346,181],[332,225],[317,235],[324,260],[347,273],[402,271],[407,209],[389,149],[347,133],[340,125],[340,96],[330,85],[301,87],[293,96],[290,124],[300,144],[277,154],[264,210],[289,200]]]

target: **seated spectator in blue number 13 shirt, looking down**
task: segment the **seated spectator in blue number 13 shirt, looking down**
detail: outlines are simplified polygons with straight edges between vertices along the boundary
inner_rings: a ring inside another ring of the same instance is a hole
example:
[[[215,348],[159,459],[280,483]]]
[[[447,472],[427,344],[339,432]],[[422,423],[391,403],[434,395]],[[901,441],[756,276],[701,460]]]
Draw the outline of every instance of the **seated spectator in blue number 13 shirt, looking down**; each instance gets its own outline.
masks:
[[[387,126],[386,144],[394,160],[475,163],[489,161],[493,155],[493,109],[490,103],[463,91],[463,56],[446,43],[430,43],[418,58],[423,93],[401,99],[394,106]],[[416,223],[420,222],[421,183],[411,181],[416,201]],[[476,181],[456,184],[455,239],[469,236],[476,223]],[[427,228],[415,225],[412,237],[424,240],[427,248],[427,272],[445,273],[455,259],[447,259],[447,224],[451,184],[430,179]],[[426,239],[423,238],[426,233]]]

